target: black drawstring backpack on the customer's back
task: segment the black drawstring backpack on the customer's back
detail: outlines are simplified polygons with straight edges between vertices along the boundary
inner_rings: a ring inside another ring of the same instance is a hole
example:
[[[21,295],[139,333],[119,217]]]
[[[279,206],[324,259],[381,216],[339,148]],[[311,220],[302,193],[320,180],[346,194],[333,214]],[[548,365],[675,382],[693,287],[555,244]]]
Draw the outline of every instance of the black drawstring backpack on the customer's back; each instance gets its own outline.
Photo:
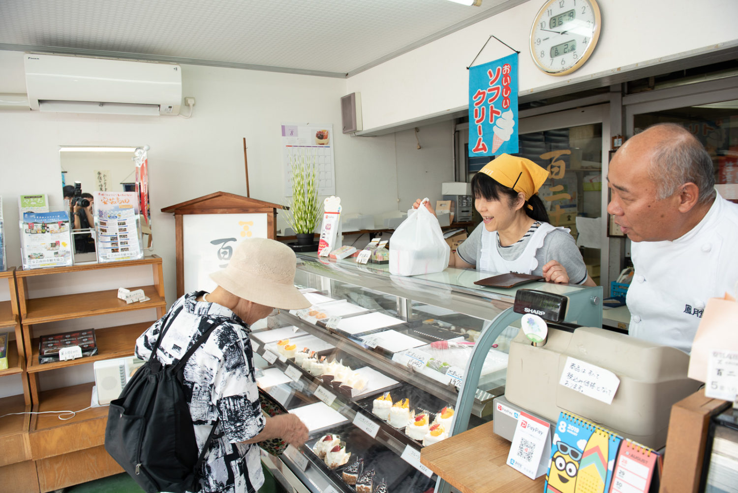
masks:
[[[176,364],[162,365],[156,350],[167,332],[168,316],[151,357],[134,373],[120,397],[110,403],[105,449],[147,493],[197,492],[199,471],[218,421],[198,455],[190,407],[182,387],[184,364],[222,320],[213,322]]]

